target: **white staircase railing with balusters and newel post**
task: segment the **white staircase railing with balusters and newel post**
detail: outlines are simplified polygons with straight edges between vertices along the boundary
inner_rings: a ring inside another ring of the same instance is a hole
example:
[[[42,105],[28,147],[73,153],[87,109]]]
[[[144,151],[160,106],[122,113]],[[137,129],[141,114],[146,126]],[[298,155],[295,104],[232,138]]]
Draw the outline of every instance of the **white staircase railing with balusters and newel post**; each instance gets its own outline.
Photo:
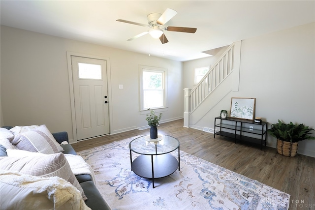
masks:
[[[240,58],[241,41],[238,41],[226,49],[192,90],[184,89],[184,127],[191,127],[197,123],[230,91],[238,91]],[[225,83],[224,87],[222,86],[223,82]]]

